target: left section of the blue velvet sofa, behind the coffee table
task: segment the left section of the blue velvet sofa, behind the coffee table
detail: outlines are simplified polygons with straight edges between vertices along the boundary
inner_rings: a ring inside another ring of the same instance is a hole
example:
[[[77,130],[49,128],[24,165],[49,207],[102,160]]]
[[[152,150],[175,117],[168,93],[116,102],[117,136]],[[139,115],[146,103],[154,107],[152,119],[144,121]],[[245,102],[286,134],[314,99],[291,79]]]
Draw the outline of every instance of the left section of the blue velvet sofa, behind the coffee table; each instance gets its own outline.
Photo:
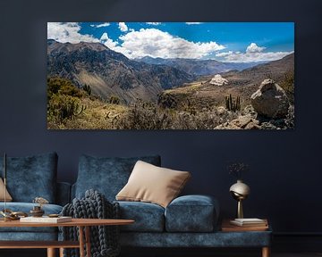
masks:
[[[56,153],[44,153],[28,157],[7,158],[7,189],[13,202],[6,204],[12,211],[29,213],[35,197],[46,198],[49,203],[42,209],[45,214],[60,213],[64,204],[70,201],[71,185],[57,182]],[[0,163],[3,163],[0,157]],[[4,177],[3,165],[0,165],[1,177]],[[4,210],[4,203],[0,203]],[[57,240],[57,228],[0,228],[0,240]]]

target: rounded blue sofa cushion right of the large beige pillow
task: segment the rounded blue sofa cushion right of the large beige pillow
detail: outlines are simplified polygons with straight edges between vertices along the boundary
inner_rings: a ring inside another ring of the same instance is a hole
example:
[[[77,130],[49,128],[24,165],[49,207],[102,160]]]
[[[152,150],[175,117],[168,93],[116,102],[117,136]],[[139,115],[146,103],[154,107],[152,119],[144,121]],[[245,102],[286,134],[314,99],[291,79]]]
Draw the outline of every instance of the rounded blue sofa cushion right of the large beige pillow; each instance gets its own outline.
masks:
[[[217,201],[207,195],[184,195],[174,199],[165,210],[168,232],[210,232],[219,214]]]

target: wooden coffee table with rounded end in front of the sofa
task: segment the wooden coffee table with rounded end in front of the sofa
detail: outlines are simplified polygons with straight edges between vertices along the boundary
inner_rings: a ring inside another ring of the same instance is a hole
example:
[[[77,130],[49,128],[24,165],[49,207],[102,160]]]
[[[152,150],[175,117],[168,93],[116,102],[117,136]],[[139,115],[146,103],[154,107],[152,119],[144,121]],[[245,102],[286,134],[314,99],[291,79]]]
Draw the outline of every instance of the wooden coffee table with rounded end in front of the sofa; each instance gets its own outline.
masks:
[[[79,241],[0,241],[0,249],[28,249],[47,248],[47,257],[55,256],[55,249],[59,248],[61,256],[64,248],[79,248],[80,257],[85,256],[84,245],[86,246],[86,256],[90,257],[90,228],[91,226],[114,226],[129,225],[134,220],[110,220],[110,219],[72,219],[64,223],[22,223],[19,220],[0,221],[0,227],[21,228],[21,227],[78,227]],[[85,229],[85,233],[83,230]],[[85,235],[84,235],[85,234]]]

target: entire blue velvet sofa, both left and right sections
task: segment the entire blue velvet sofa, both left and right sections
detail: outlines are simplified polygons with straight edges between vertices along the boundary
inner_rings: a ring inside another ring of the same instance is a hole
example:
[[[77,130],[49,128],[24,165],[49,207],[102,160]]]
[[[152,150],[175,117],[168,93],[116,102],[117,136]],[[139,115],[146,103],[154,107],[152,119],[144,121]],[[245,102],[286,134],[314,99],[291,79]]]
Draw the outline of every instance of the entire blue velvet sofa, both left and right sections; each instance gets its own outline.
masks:
[[[7,185],[13,202],[7,208],[29,212],[37,196],[49,200],[43,209],[59,213],[74,197],[81,198],[88,189],[96,189],[114,202],[125,186],[135,163],[160,166],[160,156],[106,158],[80,156],[75,184],[56,182],[57,154],[46,153],[25,158],[8,158]],[[0,163],[3,160],[0,158]],[[0,174],[3,174],[0,165]],[[154,203],[118,202],[121,218],[135,220],[121,226],[121,245],[134,247],[267,247],[271,232],[221,232],[219,204],[208,195],[183,195],[166,208]],[[4,208],[4,203],[0,203]],[[57,240],[55,228],[0,228],[0,240]],[[263,254],[263,256],[268,256]]]

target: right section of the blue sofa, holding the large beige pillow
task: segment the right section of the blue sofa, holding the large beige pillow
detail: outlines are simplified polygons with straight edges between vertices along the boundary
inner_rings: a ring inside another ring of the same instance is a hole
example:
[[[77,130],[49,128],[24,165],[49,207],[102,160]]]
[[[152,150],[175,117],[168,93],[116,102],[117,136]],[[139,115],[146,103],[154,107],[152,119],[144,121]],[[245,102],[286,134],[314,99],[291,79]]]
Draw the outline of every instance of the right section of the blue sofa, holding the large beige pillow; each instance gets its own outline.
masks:
[[[79,173],[72,197],[82,197],[90,188],[115,202],[138,161],[160,166],[160,156],[106,158],[80,156]],[[183,195],[166,208],[154,203],[118,202],[121,218],[135,220],[121,226],[121,245],[134,247],[267,247],[270,231],[221,232],[219,204],[208,195]],[[263,256],[267,256],[264,255]]]

